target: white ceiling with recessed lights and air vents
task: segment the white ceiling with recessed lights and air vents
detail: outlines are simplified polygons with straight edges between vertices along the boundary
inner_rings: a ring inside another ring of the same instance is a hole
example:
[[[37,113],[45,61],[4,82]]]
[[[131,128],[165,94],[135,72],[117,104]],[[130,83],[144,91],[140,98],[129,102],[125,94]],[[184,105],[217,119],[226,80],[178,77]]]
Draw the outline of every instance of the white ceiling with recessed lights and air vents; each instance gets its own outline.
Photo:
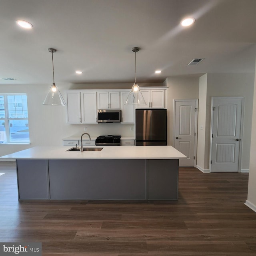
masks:
[[[0,84],[137,82],[254,72],[256,0],[0,0]],[[192,27],[180,20],[193,16]],[[16,20],[30,22],[24,30]],[[204,58],[187,66],[194,58]],[[154,74],[160,69],[161,74]],[[75,74],[81,70],[83,74]]]

